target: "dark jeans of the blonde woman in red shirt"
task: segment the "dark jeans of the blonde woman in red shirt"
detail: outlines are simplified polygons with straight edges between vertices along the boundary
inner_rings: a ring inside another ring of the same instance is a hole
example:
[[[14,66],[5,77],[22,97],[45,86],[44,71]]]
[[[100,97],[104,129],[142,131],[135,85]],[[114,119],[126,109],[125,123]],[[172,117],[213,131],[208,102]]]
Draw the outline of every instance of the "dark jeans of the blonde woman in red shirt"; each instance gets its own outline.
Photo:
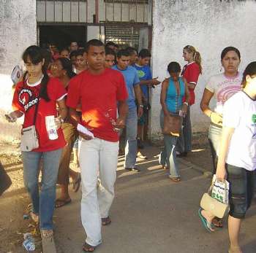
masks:
[[[183,128],[181,130],[181,135],[178,137],[177,141],[177,151],[178,152],[190,152],[192,150],[192,127],[190,120],[190,106],[187,108],[186,117],[183,120]]]

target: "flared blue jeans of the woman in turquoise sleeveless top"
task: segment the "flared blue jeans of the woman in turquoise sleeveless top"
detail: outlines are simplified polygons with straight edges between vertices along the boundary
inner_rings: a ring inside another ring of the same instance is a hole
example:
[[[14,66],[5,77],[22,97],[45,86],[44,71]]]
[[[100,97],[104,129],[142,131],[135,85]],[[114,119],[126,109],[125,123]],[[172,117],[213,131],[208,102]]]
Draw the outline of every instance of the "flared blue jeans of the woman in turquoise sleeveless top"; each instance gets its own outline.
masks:
[[[164,112],[161,111],[160,114],[160,125],[161,128],[164,126]],[[177,143],[178,137],[171,136],[169,134],[164,134],[164,142],[165,147],[162,150],[160,157],[159,157],[159,163],[162,164],[162,166],[168,166],[170,168],[170,176],[171,177],[179,177],[178,173],[178,166],[177,166],[177,160],[176,160],[176,143]]]

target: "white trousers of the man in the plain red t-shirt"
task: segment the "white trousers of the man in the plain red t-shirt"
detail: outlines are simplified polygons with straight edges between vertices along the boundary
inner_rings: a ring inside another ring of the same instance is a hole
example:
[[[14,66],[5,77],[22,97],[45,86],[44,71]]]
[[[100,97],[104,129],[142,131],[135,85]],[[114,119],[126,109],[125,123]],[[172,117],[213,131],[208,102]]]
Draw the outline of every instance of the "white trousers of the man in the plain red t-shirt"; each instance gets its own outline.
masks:
[[[82,179],[80,214],[86,230],[86,243],[97,246],[102,242],[101,218],[108,217],[115,196],[118,141],[81,139],[78,150]]]

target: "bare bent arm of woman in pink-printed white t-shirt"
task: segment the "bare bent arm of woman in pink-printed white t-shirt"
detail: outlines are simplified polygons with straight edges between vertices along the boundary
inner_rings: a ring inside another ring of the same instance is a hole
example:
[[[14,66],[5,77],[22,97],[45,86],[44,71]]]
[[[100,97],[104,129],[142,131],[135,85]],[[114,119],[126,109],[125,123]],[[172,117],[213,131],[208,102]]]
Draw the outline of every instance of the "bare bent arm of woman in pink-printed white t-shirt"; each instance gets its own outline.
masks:
[[[206,116],[211,118],[211,122],[214,122],[214,124],[222,125],[222,115],[218,114],[217,112],[211,111],[209,104],[211,101],[211,98],[214,96],[214,93],[211,93],[210,90],[205,89],[203,92],[203,98],[200,102],[200,108]]]

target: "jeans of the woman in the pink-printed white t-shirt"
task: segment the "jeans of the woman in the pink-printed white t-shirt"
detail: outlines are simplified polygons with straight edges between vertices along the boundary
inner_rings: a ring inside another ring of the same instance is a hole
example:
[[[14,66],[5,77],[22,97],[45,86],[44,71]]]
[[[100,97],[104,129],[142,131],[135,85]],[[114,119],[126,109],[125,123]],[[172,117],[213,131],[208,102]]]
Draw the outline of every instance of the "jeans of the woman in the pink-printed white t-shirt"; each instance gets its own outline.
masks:
[[[219,142],[221,137],[222,127],[219,127],[211,123],[208,131],[208,141],[211,148],[211,157],[214,168],[213,174],[215,174],[217,170],[217,151],[219,149]]]

